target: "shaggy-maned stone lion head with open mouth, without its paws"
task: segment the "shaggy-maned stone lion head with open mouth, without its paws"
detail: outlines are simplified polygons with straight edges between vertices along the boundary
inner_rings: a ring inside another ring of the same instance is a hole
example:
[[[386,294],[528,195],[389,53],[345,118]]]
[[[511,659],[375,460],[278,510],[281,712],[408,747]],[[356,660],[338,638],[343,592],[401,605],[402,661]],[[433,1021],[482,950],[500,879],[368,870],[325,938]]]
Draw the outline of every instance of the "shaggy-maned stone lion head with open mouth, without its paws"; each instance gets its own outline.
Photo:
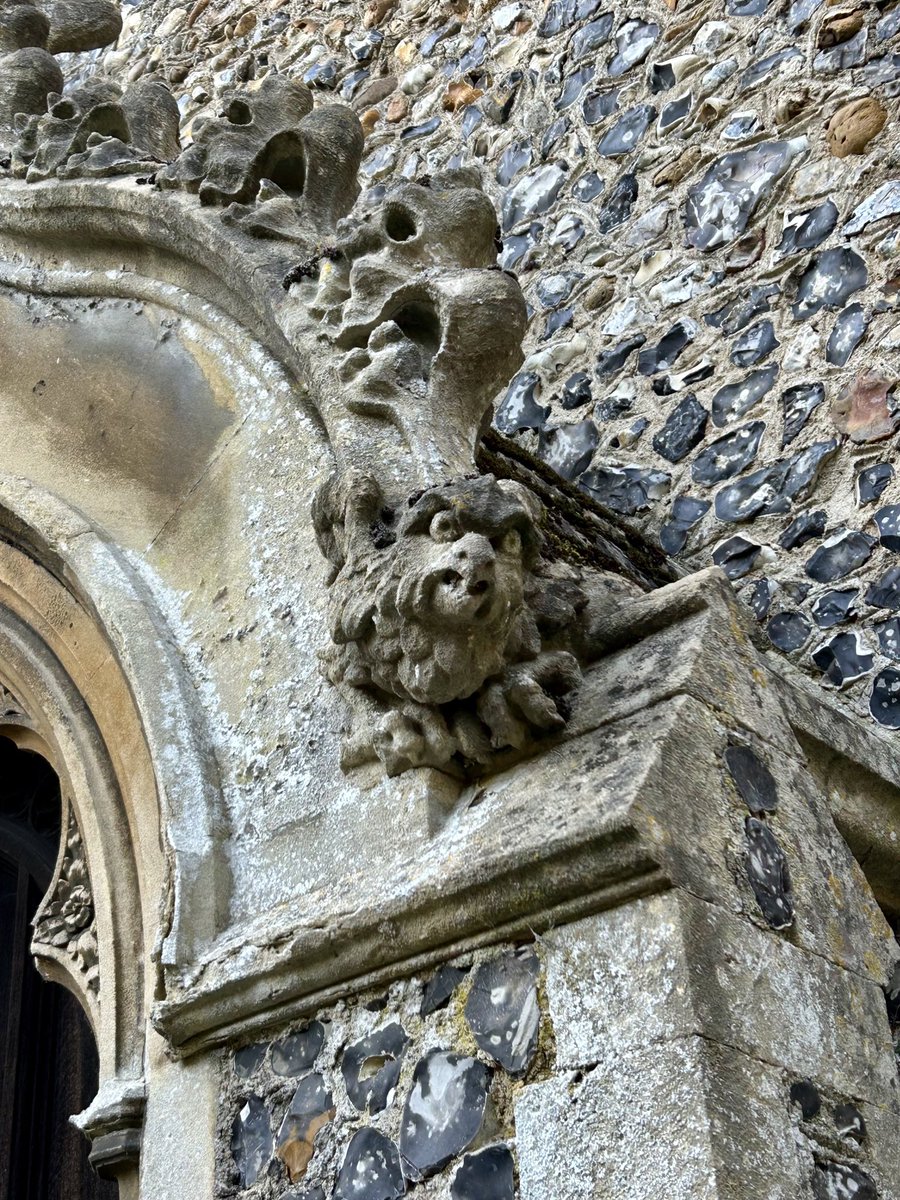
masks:
[[[371,485],[341,491],[338,522],[334,490],[316,511],[337,570],[326,652],[334,682],[445,704],[534,647],[524,600],[540,503],[526,488],[482,475],[412,497],[400,512],[378,504]]]

